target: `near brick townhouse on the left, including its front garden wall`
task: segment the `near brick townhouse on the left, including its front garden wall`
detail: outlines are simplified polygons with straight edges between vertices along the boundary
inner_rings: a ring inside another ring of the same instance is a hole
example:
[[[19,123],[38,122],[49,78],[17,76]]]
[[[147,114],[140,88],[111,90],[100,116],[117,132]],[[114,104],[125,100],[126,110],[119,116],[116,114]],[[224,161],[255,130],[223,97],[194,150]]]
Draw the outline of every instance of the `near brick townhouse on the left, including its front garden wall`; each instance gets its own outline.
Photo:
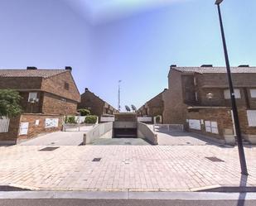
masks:
[[[2,120],[0,141],[16,143],[43,132],[58,131],[64,115],[74,115],[80,93],[65,69],[0,69],[0,89],[14,89],[22,97],[22,115]],[[6,121],[4,124],[3,121]],[[3,125],[6,127],[3,128]]]

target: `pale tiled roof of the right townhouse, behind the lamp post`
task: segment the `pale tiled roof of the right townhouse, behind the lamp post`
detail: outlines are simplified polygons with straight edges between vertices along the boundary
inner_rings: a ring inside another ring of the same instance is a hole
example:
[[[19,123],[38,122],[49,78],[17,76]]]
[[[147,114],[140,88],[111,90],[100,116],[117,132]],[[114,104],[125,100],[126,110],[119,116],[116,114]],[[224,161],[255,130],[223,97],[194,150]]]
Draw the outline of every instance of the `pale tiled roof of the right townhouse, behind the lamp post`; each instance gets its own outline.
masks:
[[[171,67],[182,73],[215,74],[226,73],[225,67]],[[256,67],[231,67],[231,73],[256,73]]]

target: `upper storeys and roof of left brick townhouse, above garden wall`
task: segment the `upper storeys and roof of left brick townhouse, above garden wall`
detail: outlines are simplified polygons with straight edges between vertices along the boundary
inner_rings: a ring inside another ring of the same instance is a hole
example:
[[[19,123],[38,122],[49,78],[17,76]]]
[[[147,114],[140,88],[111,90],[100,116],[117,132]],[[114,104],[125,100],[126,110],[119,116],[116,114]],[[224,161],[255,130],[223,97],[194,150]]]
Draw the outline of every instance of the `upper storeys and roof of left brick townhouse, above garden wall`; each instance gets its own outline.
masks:
[[[24,113],[74,115],[80,102],[80,93],[68,69],[3,69],[0,89],[17,90]],[[38,103],[29,103],[29,93],[37,93]]]

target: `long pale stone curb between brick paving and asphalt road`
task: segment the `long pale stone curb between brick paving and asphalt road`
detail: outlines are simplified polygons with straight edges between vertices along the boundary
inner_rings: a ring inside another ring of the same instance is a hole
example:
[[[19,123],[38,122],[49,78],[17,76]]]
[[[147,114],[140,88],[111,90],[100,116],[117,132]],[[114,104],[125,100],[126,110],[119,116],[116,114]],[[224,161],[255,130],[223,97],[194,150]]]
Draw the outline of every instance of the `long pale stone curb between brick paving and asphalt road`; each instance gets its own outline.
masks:
[[[256,200],[256,194],[205,192],[0,192],[0,199],[166,199],[166,200]]]

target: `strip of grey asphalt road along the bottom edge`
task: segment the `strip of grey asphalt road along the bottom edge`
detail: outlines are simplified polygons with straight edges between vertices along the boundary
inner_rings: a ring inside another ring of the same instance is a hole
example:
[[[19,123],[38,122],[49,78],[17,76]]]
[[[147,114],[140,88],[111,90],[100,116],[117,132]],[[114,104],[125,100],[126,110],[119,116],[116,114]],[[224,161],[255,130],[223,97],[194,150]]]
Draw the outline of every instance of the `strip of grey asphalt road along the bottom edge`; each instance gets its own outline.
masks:
[[[256,200],[0,199],[1,206],[255,206]]]

